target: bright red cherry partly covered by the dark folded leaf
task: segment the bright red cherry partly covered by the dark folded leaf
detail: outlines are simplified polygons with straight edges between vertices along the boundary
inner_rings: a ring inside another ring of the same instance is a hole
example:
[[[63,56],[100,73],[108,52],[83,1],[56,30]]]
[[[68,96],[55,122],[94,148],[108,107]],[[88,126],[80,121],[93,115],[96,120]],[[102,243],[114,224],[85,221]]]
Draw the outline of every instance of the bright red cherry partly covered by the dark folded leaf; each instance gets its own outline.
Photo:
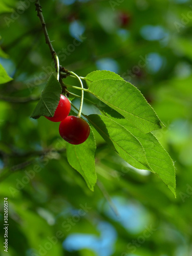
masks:
[[[46,116],[46,118],[52,122],[60,122],[69,115],[70,110],[71,110],[71,103],[69,99],[61,94],[59,104],[55,110],[54,116],[53,117]]]

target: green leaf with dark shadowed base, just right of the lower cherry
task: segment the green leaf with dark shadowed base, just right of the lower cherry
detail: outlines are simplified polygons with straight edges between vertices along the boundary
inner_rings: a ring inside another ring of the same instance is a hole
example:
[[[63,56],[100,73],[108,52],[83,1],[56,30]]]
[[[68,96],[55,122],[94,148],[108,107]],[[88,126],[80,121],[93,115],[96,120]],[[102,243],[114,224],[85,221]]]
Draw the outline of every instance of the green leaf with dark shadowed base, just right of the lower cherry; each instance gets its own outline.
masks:
[[[106,116],[96,114],[89,115],[87,119],[127,163],[138,169],[150,169],[141,143],[123,126]]]

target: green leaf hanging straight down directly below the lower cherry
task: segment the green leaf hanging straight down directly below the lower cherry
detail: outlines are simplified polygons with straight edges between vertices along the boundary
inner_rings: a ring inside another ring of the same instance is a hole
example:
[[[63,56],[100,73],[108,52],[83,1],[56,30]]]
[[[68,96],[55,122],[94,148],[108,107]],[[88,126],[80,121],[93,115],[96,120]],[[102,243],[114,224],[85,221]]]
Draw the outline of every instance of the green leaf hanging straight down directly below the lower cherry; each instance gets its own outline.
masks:
[[[96,143],[92,130],[88,139],[79,145],[66,144],[69,164],[82,175],[88,187],[94,191],[97,181],[95,172]]]

